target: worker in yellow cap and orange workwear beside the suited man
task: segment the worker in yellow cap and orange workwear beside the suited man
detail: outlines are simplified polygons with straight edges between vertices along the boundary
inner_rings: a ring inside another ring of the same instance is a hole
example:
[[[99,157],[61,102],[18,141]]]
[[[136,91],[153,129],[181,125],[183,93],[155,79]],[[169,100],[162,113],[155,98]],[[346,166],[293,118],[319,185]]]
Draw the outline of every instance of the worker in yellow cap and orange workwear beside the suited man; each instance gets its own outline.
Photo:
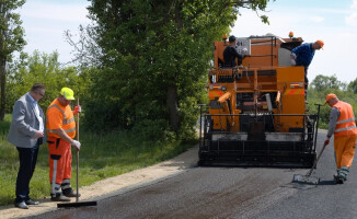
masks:
[[[51,102],[46,112],[50,199],[54,201],[70,201],[69,197],[77,197],[70,185],[72,172],[71,145],[78,150],[81,149],[81,143],[73,140],[76,137],[73,115],[80,113],[81,107],[76,106],[74,111],[71,110],[69,104],[74,100],[73,95],[71,89],[62,88],[59,96]]]

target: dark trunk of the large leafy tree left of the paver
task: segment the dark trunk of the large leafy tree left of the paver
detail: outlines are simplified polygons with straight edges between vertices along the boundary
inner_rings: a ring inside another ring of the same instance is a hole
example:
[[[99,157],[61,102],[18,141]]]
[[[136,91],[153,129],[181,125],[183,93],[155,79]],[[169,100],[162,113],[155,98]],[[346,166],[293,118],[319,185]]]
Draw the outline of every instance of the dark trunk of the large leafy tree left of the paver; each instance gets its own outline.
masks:
[[[171,130],[177,132],[180,127],[180,117],[177,107],[177,88],[175,85],[169,85],[168,88],[168,106]]]

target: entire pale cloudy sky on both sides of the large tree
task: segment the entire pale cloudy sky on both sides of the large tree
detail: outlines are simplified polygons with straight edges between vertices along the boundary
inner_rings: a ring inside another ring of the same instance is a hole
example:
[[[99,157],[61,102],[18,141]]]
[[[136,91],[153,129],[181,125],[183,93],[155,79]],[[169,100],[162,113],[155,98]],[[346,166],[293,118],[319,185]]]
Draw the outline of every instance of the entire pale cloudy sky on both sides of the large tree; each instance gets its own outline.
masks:
[[[64,33],[69,30],[78,34],[80,24],[91,21],[87,18],[87,0],[27,0],[19,10],[25,30],[27,45],[24,50],[32,54],[59,53],[59,61],[72,58],[72,48]],[[269,25],[263,24],[255,12],[240,10],[231,34],[239,37],[265,35],[267,33],[288,37],[302,37],[306,43],[322,39],[323,50],[318,50],[309,68],[309,80],[318,74],[336,76],[342,82],[357,78],[357,0],[276,0],[270,1],[266,12]]]

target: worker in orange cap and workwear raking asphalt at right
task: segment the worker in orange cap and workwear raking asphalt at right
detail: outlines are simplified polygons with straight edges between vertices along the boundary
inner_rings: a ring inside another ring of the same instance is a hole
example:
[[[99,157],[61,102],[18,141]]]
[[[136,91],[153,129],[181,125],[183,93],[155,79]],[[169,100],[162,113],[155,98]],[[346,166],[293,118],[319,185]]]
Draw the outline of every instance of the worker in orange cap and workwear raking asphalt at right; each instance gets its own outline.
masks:
[[[338,97],[330,93],[326,95],[326,102],[332,110],[330,113],[330,123],[327,138],[324,146],[327,146],[330,138],[334,135],[334,150],[337,173],[334,175],[336,183],[343,184],[347,180],[349,168],[354,160],[357,128],[353,107]]]

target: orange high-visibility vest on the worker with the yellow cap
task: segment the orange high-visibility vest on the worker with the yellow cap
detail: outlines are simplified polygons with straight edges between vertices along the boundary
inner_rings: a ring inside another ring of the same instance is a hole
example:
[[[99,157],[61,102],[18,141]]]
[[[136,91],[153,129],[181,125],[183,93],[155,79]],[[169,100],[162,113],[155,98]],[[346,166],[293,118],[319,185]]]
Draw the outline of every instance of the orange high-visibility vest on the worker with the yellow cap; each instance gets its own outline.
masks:
[[[76,122],[71,107],[60,105],[57,99],[51,102],[46,112],[46,128],[48,137],[60,138],[54,130],[62,128],[70,138],[74,138]]]

